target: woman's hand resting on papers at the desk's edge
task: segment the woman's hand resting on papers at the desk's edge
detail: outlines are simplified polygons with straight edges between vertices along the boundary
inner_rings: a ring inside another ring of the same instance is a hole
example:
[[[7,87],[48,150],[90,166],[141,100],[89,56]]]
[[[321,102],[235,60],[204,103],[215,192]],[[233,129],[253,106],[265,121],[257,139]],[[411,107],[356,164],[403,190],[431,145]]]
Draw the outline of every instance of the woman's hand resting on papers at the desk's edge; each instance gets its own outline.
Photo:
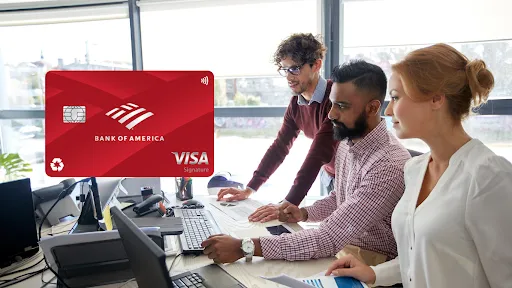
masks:
[[[325,276],[329,276],[331,273],[334,276],[353,277],[366,284],[375,283],[376,278],[375,272],[370,266],[361,263],[352,255],[347,255],[334,261],[325,272]]]

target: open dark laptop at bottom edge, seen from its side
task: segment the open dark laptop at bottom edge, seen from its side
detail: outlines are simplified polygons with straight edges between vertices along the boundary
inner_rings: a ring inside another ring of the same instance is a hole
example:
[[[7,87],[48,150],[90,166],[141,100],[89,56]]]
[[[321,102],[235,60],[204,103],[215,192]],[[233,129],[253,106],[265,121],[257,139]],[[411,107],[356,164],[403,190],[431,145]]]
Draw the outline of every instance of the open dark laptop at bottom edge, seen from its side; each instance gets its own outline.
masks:
[[[170,277],[165,252],[117,208],[110,208],[135,280],[140,288],[246,288],[218,265],[210,264]]]

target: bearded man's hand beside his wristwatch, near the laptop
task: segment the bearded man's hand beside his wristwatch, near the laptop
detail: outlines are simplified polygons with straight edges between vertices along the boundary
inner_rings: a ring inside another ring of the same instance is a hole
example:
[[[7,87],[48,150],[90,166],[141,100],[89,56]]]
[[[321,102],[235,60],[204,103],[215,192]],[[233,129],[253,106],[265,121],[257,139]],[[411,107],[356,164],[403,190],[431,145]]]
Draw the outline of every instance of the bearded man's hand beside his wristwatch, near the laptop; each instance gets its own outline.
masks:
[[[201,243],[203,254],[215,263],[232,263],[244,257],[242,240],[228,235],[212,235]]]

